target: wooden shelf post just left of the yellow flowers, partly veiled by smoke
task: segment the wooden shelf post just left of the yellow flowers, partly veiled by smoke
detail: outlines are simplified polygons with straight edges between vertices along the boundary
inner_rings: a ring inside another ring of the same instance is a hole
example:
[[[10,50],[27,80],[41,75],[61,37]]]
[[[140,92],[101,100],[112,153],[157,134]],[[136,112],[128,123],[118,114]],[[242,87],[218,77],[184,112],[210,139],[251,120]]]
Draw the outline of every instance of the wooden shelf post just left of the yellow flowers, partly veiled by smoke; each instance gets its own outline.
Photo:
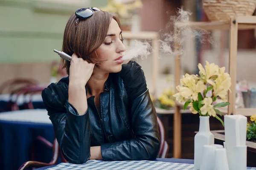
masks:
[[[175,31],[179,28],[175,28]],[[175,51],[180,50],[180,44],[175,41]],[[181,62],[180,55],[175,55],[175,86],[180,85],[180,72],[181,72]],[[176,93],[178,92],[175,89]],[[173,157],[181,158],[181,113],[180,106],[175,105],[175,113],[173,119]]]

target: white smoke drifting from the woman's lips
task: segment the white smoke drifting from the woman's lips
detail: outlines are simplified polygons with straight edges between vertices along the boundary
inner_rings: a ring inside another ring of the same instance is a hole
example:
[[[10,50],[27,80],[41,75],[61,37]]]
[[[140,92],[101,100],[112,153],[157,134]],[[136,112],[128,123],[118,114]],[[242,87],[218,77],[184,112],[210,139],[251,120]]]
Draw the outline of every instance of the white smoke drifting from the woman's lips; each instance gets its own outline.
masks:
[[[172,55],[181,55],[183,54],[182,45],[188,39],[195,38],[200,40],[201,43],[208,41],[212,43],[212,38],[207,36],[210,32],[207,30],[196,30],[188,26],[189,23],[189,16],[191,15],[190,12],[184,11],[182,8],[179,9],[177,16],[171,16],[169,23],[166,25],[166,30],[171,27],[175,26],[175,23],[181,23],[183,26],[175,31],[166,31],[161,30],[159,32],[160,40],[159,41],[159,52],[165,54],[172,54]],[[186,36],[185,36],[186,34]],[[137,57],[141,57],[142,59],[146,58],[149,54],[151,54],[152,48],[150,45],[151,41],[137,41],[134,40],[131,44],[131,47],[128,47],[124,53],[123,59],[133,59]],[[179,44],[181,48],[179,50],[175,49],[175,43]]]

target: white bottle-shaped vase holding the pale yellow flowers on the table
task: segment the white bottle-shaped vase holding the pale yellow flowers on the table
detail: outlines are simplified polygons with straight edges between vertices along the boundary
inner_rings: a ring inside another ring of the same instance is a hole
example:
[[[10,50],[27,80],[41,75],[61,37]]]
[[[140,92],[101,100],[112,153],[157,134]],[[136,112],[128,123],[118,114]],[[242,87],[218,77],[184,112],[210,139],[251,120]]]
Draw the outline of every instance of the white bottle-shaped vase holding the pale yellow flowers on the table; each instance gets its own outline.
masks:
[[[200,170],[203,147],[205,144],[214,144],[214,136],[210,132],[209,116],[199,116],[199,131],[194,139],[194,169]]]

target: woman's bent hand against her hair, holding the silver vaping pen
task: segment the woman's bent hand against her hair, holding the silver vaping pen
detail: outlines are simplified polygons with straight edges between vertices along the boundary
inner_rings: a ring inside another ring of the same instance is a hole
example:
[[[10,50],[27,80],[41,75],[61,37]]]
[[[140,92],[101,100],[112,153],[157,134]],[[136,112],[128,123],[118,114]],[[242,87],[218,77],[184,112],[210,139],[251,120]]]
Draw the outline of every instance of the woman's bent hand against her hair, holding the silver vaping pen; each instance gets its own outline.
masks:
[[[93,74],[94,65],[82,58],[78,58],[74,53],[70,62],[70,82],[84,87]]]

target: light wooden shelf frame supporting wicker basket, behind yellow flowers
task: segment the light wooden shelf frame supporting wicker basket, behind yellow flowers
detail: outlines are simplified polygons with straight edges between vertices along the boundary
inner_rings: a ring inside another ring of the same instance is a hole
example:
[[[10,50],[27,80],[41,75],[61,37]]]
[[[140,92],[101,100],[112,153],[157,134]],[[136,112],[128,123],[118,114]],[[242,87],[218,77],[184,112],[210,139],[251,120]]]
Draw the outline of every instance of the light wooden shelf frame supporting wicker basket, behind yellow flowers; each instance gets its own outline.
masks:
[[[221,108],[223,114],[241,114],[250,116],[256,113],[256,108],[235,108],[236,106],[236,58],[237,58],[237,41],[238,30],[256,28],[256,16],[238,16],[232,17],[228,21],[215,21],[215,22],[188,22],[188,23],[175,23],[176,31],[182,27],[190,27],[194,29],[204,30],[217,30],[226,29],[230,31],[229,40],[229,74],[231,77],[231,87],[228,93],[228,108]],[[178,39],[178,38],[177,38]],[[180,44],[175,42],[175,50],[179,50]],[[180,71],[181,59],[177,55],[175,57],[175,86],[180,85]],[[177,89],[176,89],[177,92]],[[175,105],[174,114],[174,142],[173,142],[173,157],[181,158],[181,105]]]

